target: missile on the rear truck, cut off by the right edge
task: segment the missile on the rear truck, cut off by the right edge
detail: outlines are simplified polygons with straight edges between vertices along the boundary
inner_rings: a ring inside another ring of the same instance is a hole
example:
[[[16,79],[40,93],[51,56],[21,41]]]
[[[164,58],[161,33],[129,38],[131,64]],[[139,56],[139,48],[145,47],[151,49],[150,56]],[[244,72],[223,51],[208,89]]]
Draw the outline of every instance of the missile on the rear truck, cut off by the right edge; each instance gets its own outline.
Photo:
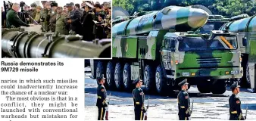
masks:
[[[224,24],[220,29],[225,30],[226,26],[229,26],[229,31],[233,33],[256,32],[256,15],[230,21]]]

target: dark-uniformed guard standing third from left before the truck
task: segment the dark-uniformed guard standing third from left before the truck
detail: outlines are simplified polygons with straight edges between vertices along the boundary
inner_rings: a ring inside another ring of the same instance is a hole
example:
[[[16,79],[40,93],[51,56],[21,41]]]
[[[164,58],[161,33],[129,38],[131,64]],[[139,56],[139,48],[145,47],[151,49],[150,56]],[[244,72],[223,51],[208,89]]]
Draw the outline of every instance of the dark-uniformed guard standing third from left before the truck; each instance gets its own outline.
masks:
[[[186,92],[186,90],[189,88],[189,83],[186,81],[187,79],[184,79],[182,82],[178,84],[181,86],[181,91],[177,96],[180,120],[189,120],[189,117],[192,113],[189,108],[189,94]]]

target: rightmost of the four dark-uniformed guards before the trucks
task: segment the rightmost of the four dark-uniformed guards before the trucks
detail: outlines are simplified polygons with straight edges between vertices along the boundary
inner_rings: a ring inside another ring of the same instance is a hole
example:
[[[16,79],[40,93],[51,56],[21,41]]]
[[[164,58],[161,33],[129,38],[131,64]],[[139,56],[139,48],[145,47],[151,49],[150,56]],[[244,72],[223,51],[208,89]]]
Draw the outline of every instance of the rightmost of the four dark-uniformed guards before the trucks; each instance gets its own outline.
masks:
[[[234,82],[233,85],[230,86],[233,94],[229,98],[229,120],[246,119],[246,116],[242,116],[241,101],[237,95],[240,92],[239,87],[238,82]]]

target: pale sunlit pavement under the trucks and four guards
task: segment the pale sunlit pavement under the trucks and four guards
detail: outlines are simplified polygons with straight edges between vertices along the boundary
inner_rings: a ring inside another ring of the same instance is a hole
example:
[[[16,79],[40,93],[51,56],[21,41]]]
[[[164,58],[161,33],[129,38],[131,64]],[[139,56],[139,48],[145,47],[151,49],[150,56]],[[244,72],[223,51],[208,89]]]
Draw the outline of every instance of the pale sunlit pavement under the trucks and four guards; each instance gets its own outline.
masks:
[[[97,119],[98,116],[98,109],[95,107],[96,88],[96,80],[90,79],[89,73],[86,73],[85,110],[86,119],[89,120]],[[246,88],[240,90],[239,97],[242,100],[242,111],[245,113],[248,106],[248,120],[256,119],[256,94],[249,92]],[[109,119],[134,119],[132,93],[108,91],[108,95],[110,92]],[[177,93],[170,97],[150,95],[148,119],[178,119],[176,114]],[[229,89],[223,95],[200,94],[196,86],[192,86],[189,88],[189,97],[194,101],[192,119],[228,119],[228,98],[231,94]],[[146,95],[147,97],[148,95]],[[145,100],[145,102],[147,103],[148,100]]]

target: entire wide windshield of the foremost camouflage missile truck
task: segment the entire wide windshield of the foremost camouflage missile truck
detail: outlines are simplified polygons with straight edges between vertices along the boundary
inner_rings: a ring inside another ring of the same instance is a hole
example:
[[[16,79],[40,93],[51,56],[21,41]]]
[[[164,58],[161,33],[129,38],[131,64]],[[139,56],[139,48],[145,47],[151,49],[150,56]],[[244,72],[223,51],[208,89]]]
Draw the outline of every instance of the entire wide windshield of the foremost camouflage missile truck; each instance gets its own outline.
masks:
[[[201,37],[183,37],[179,42],[179,51],[205,51],[237,49],[236,36],[215,36],[214,39]]]

